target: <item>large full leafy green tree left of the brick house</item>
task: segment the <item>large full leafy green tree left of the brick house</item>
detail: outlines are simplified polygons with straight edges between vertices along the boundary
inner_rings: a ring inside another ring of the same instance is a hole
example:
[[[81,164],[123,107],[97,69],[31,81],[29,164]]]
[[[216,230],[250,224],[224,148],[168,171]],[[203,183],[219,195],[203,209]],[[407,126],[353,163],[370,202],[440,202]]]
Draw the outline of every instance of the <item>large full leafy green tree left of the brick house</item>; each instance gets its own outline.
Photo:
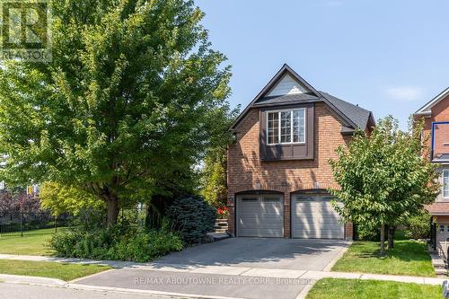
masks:
[[[3,177],[104,201],[108,224],[204,154],[229,67],[189,0],[53,0],[53,59],[0,68]],[[140,200],[139,199],[139,200]]]

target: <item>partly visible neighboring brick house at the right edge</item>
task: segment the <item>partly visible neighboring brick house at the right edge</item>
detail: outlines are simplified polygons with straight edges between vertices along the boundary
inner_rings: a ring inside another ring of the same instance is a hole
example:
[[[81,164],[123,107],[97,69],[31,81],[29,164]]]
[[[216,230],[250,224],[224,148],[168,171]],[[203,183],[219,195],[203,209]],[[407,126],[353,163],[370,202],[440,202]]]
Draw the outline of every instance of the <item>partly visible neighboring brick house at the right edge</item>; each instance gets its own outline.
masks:
[[[414,114],[415,119],[424,118],[423,140],[427,140],[429,159],[440,163],[441,193],[434,204],[427,207],[435,225],[432,229],[434,245],[449,238],[449,88],[427,102]]]

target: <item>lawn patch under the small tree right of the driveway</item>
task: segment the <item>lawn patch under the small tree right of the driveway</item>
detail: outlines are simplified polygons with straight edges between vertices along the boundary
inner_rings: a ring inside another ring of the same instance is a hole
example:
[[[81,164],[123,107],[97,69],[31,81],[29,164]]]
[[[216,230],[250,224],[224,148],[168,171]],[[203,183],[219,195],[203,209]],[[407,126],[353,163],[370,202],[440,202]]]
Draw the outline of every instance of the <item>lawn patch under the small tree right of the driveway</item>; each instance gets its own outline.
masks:
[[[332,271],[435,277],[425,243],[397,240],[379,257],[379,242],[354,242]]]

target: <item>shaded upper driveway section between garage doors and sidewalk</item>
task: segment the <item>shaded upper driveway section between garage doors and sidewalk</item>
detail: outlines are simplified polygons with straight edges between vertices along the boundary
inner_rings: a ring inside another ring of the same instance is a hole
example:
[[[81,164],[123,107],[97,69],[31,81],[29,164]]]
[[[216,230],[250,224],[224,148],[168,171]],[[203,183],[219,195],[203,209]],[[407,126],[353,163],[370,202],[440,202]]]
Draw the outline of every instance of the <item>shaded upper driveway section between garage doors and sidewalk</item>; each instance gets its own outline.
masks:
[[[172,253],[155,264],[321,271],[347,247],[337,240],[231,238]]]

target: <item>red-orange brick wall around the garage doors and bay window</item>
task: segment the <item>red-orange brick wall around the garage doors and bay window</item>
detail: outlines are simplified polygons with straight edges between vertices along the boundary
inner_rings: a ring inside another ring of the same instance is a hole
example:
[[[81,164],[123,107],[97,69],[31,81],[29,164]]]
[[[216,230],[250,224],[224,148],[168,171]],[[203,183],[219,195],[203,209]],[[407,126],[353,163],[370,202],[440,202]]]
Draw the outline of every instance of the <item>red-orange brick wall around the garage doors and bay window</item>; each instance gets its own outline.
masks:
[[[339,117],[324,102],[314,104],[313,160],[261,162],[259,155],[259,109],[252,108],[235,127],[236,142],[228,151],[229,232],[235,233],[234,204],[239,192],[271,190],[284,194],[284,236],[291,237],[290,201],[293,192],[339,188],[333,180],[329,159],[336,158],[339,145],[347,146],[351,136],[341,134]],[[353,236],[352,224],[345,236]]]

